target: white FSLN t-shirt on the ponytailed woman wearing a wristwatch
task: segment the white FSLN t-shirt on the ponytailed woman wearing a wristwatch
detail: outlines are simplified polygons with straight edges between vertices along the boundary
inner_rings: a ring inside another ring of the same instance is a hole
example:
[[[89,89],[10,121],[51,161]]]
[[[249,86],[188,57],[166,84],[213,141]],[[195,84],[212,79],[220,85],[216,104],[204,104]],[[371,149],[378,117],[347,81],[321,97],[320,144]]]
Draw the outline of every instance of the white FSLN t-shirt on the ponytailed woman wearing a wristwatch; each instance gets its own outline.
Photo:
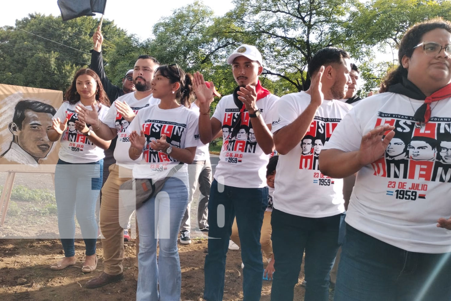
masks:
[[[144,108],[135,116],[127,133],[133,130],[144,132],[143,160],[133,167],[133,177],[155,179],[156,173],[164,174],[179,163],[179,161],[163,152],[150,147],[152,140],[160,139],[166,134],[166,142],[172,148],[189,148],[201,145],[198,127],[198,116],[190,109],[180,106],[175,109],[163,110],[156,106]],[[128,150],[127,150],[128,156]],[[180,172],[187,171],[186,164]],[[160,172],[163,171],[163,172]]]

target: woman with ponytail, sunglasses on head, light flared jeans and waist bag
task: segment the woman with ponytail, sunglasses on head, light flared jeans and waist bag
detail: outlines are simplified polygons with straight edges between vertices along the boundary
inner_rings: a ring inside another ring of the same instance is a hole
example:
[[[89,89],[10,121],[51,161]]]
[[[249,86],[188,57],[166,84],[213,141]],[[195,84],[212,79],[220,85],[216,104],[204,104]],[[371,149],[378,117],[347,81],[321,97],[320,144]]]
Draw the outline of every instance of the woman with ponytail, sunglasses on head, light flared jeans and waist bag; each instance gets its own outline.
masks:
[[[193,99],[192,76],[176,64],[158,67],[151,86],[153,97],[161,102],[140,110],[129,125],[130,130],[127,129],[131,131],[129,157],[136,160],[143,154],[145,161],[135,165],[133,177],[156,181],[174,167],[179,169],[157,195],[136,210],[140,237],[136,300],[179,301],[177,237],[188,204],[187,164],[193,162],[200,145],[198,117],[189,110]]]

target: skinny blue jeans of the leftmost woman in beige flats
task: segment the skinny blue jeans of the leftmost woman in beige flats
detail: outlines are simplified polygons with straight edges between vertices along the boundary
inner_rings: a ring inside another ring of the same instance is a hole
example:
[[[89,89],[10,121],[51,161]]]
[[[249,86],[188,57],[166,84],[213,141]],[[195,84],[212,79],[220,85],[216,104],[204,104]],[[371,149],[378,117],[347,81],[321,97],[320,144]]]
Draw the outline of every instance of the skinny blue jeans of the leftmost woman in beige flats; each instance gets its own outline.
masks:
[[[58,229],[64,256],[75,255],[75,218],[86,245],[86,255],[96,254],[96,202],[102,186],[103,160],[73,164],[58,160],[55,168],[55,199]]]

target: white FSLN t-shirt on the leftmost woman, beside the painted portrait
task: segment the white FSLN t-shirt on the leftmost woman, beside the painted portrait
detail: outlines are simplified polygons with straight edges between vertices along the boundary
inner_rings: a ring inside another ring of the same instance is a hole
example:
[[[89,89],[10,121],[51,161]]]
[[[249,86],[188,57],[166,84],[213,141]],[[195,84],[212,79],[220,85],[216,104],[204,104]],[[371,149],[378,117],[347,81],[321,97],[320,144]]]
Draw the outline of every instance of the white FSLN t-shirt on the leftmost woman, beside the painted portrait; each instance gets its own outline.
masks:
[[[74,105],[69,102],[63,102],[58,111],[56,111],[53,119],[60,118],[61,121],[68,119],[67,128],[61,135],[60,152],[58,153],[61,160],[69,163],[89,163],[96,162],[105,157],[105,153],[102,148],[94,145],[87,136],[79,133],[75,129],[75,121],[78,120],[78,114],[75,112],[77,105],[83,106],[81,102],[77,102]],[[88,110],[92,110],[91,106],[87,107]],[[103,105],[96,105],[95,109],[99,114],[99,117],[103,117],[108,112],[109,107]],[[92,126],[87,125],[91,130]]]

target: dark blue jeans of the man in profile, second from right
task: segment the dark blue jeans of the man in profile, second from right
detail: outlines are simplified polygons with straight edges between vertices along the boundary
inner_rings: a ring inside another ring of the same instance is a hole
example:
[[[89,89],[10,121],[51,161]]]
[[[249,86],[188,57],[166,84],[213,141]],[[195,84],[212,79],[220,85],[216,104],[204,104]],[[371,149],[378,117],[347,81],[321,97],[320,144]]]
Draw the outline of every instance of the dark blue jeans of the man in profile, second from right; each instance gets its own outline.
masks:
[[[302,201],[302,200],[299,200]],[[327,301],[329,273],[339,247],[338,233],[344,214],[325,218],[305,218],[272,210],[274,279],[272,301],[292,301],[305,251],[305,301]]]

